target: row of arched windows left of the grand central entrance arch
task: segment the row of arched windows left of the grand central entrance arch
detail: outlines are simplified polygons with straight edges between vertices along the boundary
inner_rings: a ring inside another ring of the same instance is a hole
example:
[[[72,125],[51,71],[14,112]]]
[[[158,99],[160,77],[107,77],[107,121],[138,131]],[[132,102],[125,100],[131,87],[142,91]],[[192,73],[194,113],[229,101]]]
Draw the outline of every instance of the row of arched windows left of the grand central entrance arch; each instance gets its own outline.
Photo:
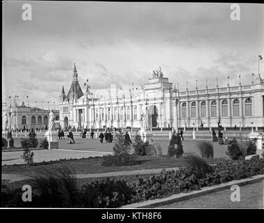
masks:
[[[119,109],[119,112],[117,112],[117,109]],[[123,121],[131,120],[131,106],[128,107],[113,107],[111,114],[110,107],[106,109],[106,115],[104,114],[105,110],[103,108],[101,109],[95,109],[95,120],[96,121],[117,121],[118,120],[118,114],[119,114],[119,120]],[[105,120],[106,118],[106,120]],[[138,119],[138,108],[137,106],[133,106],[133,120]]]

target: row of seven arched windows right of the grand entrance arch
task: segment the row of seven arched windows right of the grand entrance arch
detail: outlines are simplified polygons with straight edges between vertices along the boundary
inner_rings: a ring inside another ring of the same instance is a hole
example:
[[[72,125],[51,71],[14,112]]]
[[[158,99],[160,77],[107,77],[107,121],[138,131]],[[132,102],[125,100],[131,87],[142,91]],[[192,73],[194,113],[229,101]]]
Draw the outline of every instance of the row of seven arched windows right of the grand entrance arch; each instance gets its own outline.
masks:
[[[222,100],[222,106],[221,106],[221,116],[227,117],[228,116],[228,101]],[[200,116],[201,118],[206,118],[206,102],[202,101],[200,104]],[[238,99],[233,100],[233,117],[240,116],[240,109],[239,109],[240,101]],[[197,118],[197,112],[196,112],[196,102],[192,102],[190,104],[190,118]],[[252,100],[251,98],[247,98],[245,100],[245,116],[252,116]],[[181,117],[186,118],[187,117],[187,108],[186,108],[186,102],[183,102],[181,104]],[[213,100],[211,102],[211,118],[217,117],[217,102]]]

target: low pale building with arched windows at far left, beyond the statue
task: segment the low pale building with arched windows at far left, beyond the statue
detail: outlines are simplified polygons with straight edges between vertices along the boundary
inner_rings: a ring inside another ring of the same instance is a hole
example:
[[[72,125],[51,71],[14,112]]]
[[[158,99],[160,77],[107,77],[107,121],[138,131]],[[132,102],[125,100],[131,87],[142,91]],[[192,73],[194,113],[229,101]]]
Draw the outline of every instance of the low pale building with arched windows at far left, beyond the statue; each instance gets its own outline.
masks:
[[[17,102],[10,103],[9,107],[2,106],[2,129],[4,125],[3,118],[8,114],[8,128],[10,130],[28,130],[47,129],[49,124],[49,110],[40,109],[39,107],[28,107],[22,102],[18,105]],[[59,111],[53,109],[55,122],[59,125]]]

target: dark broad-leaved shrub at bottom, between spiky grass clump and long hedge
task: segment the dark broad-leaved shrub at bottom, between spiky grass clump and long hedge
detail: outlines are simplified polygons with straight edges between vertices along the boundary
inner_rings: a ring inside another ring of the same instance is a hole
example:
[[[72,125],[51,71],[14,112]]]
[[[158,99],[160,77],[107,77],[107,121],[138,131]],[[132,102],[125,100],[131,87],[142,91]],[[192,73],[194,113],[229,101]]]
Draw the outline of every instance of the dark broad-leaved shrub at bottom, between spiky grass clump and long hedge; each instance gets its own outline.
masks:
[[[135,190],[125,180],[97,180],[81,187],[85,208],[117,208],[131,201]]]

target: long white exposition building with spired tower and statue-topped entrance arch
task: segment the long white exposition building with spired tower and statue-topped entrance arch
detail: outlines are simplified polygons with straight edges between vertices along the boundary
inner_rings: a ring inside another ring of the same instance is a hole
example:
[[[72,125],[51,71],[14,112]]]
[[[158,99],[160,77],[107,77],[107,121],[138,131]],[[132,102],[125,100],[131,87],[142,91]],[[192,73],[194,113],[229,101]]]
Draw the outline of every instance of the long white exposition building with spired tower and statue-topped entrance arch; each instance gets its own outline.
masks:
[[[111,88],[104,98],[90,92],[85,83],[83,93],[74,64],[70,89],[60,95],[62,128],[140,128],[142,108],[149,107],[149,128],[264,127],[264,82],[261,75],[251,84],[196,88],[179,91],[160,70],[153,71],[144,88],[129,91]]]

